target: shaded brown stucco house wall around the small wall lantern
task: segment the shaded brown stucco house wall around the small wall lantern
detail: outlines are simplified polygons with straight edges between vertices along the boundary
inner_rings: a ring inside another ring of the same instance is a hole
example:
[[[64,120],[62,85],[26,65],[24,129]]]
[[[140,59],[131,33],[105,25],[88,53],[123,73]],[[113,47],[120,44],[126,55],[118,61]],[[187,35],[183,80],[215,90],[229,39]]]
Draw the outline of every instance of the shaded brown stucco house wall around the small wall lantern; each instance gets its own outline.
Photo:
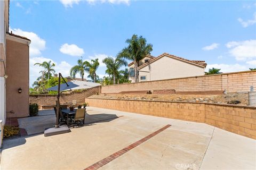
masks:
[[[14,39],[19,42],[6,38],[6,116],[25,117],[29,115],[29,43]]]

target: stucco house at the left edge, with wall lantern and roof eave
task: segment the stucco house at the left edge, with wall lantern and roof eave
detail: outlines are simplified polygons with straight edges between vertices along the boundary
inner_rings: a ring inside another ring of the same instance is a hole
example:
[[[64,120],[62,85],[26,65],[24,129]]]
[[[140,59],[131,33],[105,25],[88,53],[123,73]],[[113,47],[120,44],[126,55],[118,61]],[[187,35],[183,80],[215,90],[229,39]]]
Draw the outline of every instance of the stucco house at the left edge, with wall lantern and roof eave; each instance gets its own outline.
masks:
[[[9,1],[0,1],[0,120],[29,116],[30,40],[9,33]],[[18,92],[21,89],[21,92]]]

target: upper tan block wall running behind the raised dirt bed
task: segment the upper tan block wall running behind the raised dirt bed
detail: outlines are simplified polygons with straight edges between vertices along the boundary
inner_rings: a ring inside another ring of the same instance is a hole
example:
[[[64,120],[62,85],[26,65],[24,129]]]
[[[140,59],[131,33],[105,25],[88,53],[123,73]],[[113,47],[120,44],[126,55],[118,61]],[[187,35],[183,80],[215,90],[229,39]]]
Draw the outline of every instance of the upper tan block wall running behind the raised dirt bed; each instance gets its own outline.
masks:
[[[146,81],[139,83],[114,84],[102,86],[101,93],[118,93],[121,91],[166,90],[176,91],[250,91],[256,87],[256,71],[244,71],[198,77]]]

